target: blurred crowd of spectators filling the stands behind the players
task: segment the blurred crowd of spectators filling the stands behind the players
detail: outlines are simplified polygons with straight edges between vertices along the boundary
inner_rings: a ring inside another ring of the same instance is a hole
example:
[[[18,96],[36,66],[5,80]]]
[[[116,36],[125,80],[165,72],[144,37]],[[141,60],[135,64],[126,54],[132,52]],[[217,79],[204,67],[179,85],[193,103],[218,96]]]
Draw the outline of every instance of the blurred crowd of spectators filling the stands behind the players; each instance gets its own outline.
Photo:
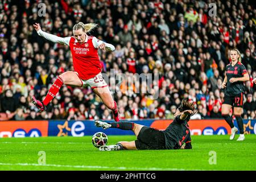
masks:
[[[45,16],[38,14],[41,2]],[[216,16],[209,16],[209,3],[216,3]],[[0,0],[0,120],[112,119],[89,87],[64,85],[42,113],[31,103],[31,96],[43,100],[57,75],[73,70],[69,47],[40,37],[32,24],[66,37],[78,22],[97,23],[90,35],[115,46],[98,52],[102,73],[159,73],[146,94],[128,80],[110,86],[121,118],[173,119],[183,98],[197,103],[193,118],[221,118],[225,67],[230,49],[238,48],[250,75],[242,117],[256,119],[254,7],[236,0]]]

